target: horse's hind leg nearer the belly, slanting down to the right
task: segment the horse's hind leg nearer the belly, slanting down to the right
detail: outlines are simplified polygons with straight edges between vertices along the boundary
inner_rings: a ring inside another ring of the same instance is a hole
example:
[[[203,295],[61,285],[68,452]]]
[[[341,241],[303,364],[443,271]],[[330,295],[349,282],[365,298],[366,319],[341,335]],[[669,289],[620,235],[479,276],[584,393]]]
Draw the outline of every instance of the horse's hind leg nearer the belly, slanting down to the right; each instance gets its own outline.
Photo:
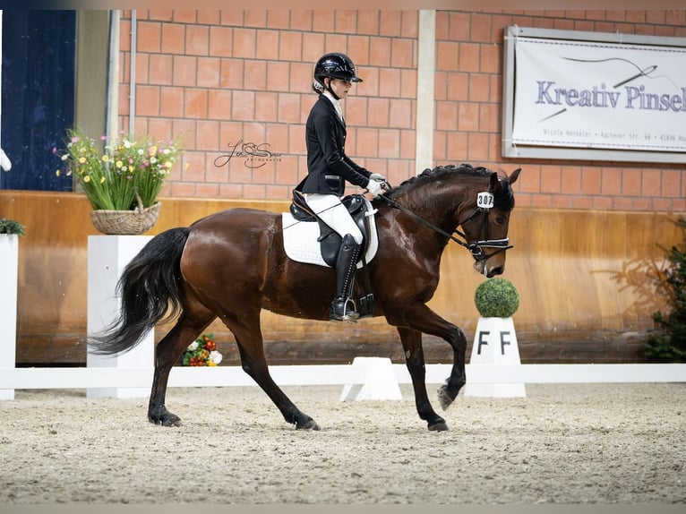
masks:
[[[287,423],[295,424],[298,429],[319,430],[319,425],[298,409],[271,378],[267,358],[264,356],[259,312],[241,313],[240,321],[226,322],[229,330],[236,336],[244,372],[248,373],[279,407]]]

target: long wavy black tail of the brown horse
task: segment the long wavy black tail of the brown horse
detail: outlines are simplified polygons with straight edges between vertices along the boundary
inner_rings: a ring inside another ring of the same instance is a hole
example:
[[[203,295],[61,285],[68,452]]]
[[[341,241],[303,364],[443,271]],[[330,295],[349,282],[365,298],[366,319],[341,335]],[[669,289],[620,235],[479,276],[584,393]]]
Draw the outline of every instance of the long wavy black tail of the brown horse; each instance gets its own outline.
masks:
[[[178,227],[160,233],[127,264],[116,285],[119,313],[102,332],[89,338],[91,354],[127,352],[159,321],[180,313],[179,262],[189,231]]]

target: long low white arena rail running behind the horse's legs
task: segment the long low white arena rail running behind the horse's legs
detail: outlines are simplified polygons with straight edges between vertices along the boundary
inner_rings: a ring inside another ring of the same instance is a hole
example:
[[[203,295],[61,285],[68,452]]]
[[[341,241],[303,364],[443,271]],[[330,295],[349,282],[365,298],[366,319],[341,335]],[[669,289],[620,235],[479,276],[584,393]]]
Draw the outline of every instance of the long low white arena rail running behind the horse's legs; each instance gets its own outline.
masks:
[[[371,357],[374,358],[374,357]],[[411,383],[405,364],[391,364],[398,383]],[[427,364],[426,383],[440,384],[450,364]],[[353,364],[272,365],[281,386],[363,384]],[[152,368],[26,367],[0,369],[0,390],[150,388]],[[686,364],[467,364],[467,383],[686,382]],[[175,366],[169,387],[255,386],[240,366]]]

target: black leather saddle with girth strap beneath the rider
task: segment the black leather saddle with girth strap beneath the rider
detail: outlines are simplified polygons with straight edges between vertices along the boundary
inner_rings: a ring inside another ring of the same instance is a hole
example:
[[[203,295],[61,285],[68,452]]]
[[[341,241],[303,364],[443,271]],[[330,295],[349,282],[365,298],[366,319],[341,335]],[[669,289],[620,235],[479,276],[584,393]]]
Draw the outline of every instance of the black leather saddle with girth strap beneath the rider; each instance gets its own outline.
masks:
[[[344,196],[341,199],[341,202],[346,206],[347,211],[350,213],[350,216],[353,218],[357,227],[359,227],[360,232],[362,233],[362,244],[360,244],[359,252],[360,258],[357,261],[357,268],[361,268],[364,281],[359,279],[360,274],[358,273],[355,280],[356,287],[354,288],[354,294],[356,295],[357,310],[360,313],[360,318],[368,318],[373,316],[374,312],[372,281],[369,277],[366,258],[368,253],[367,251],[370,250],[369,246],[372,241],[372,237],[370,237],[370,232],[372,229],[374,230],[374,244],[372,244],[371,254],[373,255],[373,253],[376,252],[375,227],[369,226],[369,218],[373,216],[374,211],[372,210],[369,201],[367,201],[362,194],[350,194]],[[369,208],[367,208],[367,205],[369,205]],[[372,211],[368,212],[368,210]],[[303,193],[298,189],[293,190],[293,201],[291,201],[289,211],[290,215],[296,219],[296,221],[302,221],[305,223],[317,222],[319,224],[319,236],[317,237],[317,241],[320,244],[322,259],[330,268],[334,268],[336,266],[336,258],[339,254],[340,244],[342,242],[342,237],[339,236],[339,233],[329,227],[322,221],[322,219],[318,218],[314,214],[314,212],[307,205],[307,202],[304,201]]]

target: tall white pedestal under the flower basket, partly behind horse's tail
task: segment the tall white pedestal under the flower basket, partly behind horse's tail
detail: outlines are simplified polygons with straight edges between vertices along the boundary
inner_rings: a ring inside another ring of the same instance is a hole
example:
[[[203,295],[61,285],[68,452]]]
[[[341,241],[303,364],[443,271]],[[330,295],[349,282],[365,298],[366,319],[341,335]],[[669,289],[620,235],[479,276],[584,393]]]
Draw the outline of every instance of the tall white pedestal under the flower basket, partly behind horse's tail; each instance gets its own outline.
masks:
[[[152,236],[88,236],[88,335],[101,332],[119,313],[121,302],[116,296],[116,283],[126,265],[150,241]],[[90,348],[89,348],[90,350]],[[150,330],[132,350],[118,356],[98,356],[88,353],[89,368],[150,369],[150,381],[155,363],[155,333]],[[88,398],[145,398],[147,388],[94,388]]]

